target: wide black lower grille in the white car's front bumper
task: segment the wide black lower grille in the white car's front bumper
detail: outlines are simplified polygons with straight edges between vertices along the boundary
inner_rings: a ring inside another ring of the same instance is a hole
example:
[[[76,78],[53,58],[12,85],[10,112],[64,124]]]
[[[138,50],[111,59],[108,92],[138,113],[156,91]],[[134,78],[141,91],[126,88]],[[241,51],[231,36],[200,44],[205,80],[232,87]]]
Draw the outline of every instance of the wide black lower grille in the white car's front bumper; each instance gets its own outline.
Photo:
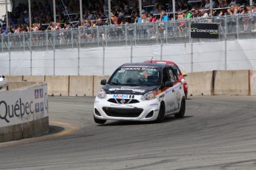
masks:
[[[143,112],[140,108],[115,108],[115,107],[103,107],[103,111],[106,115],[111,117],[122,118],[137,118]]]

